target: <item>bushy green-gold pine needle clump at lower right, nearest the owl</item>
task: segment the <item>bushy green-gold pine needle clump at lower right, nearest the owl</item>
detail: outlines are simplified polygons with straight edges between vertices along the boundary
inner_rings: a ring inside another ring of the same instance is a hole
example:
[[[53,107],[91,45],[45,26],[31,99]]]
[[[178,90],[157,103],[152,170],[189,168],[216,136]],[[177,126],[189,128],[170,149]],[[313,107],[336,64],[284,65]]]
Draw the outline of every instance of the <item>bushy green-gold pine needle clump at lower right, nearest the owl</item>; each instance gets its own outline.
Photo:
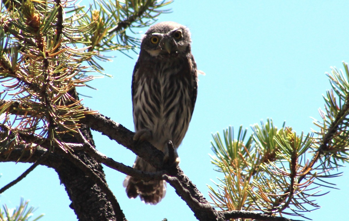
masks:
[[[301,201],[309,197],[304,191],[314,177],[305,183],[297,181],[300,175],[308,172],[299,165],[298,158],[311,147],[312,137],[310,134],[303,136],[303,133],[296,136],[284,125],[277,129],[270,119],[266,124],[262,122],[261,127],[252,126],[252,129],[253,133],[246,142],[246,130],[242,126],[237,139],[234,139],[232,128],[229,128],[229,133],[224,131],[224,141],[219,134],[214,135],[212,149],[216,157],[212,157],[212,163],[224,174],[221,183],[216,184],[218,191],[209,186],[214,205],[222,210],[257,210],[268,215],[303,216],[284,210],[292,210],[294,206],[309,211]],[[309,205],[317,207],[311,202]]]

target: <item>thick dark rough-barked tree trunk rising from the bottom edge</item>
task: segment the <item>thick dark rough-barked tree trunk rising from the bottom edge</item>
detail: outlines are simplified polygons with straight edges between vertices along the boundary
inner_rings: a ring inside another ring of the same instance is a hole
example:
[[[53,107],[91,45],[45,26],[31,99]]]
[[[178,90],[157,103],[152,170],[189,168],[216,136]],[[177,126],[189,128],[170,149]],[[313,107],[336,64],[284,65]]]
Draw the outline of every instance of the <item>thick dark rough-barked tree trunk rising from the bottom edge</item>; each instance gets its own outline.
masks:
[[[70,95],[79,100],[75,89],[70,91]],[[90,128],[86,124],[81,124],[80,132],[75,136],[65,133],[62,141],[88,142],[95,148]],[[62,152],[60,149],[59,151]],[[80,221],[126,220],[117,199],[107,186],[102,164],[84,150],[65,154],[64,163],[54,169],[72,201],[70,208]]]

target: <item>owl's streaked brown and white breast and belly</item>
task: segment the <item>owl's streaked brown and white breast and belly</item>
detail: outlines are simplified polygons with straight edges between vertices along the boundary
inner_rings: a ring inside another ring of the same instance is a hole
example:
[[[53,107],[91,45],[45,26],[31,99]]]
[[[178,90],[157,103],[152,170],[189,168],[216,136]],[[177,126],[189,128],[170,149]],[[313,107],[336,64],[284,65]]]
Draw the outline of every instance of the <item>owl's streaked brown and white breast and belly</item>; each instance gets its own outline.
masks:
[[[176,147],[184,138],[192,113],[190,85],[181,77],[180,67],[173,61],[154,64],[152,73],[139,77],[133,85],[135,129],[147,128],[154,140],[171,140]]]

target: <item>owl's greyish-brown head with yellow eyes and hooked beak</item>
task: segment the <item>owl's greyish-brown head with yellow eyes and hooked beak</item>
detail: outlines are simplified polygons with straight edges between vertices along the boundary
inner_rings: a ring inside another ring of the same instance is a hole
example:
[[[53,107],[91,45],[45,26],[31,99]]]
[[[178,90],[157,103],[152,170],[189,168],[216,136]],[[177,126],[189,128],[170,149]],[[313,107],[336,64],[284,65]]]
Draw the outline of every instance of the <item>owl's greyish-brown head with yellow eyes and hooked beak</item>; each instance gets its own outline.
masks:
[[[160,22],[151,26],[145,33],[141,50],[146,50],[153,57],[166,57],[185,54],[190,50],[190,43],[187,27],[176,22]]]

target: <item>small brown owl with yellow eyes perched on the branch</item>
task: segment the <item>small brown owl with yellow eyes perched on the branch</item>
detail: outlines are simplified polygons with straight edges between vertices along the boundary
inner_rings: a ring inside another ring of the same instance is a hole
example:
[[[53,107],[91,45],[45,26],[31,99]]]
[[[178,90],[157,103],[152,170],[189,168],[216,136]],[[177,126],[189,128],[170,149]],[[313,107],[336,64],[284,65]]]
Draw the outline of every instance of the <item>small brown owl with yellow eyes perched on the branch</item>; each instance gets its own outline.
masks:
[[[198,92],[198,70],[191,53],[187,27],[175,22],[161,22],[145,33],[139,58],[132,75],[134,140],[149,141],[168,159],[167,142],[177,148],[192,118]],[[142,158],[133,168],[155,172]],[[129,198],[140,196],[155,205],[166,193],[163,180],[143,181],[127,176],[123,183]]]

